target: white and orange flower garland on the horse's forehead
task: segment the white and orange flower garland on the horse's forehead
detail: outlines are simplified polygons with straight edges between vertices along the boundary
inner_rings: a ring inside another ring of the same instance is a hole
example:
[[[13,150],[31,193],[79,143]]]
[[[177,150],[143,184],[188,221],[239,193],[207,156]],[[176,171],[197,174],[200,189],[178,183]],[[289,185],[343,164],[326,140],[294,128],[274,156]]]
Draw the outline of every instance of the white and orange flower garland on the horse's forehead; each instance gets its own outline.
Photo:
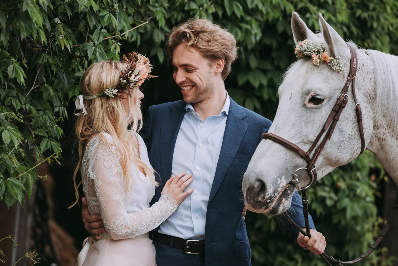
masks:
[[[342,65],[340,57],[331,57],[328,49],[320,42],[314,42],[309,39],[298,42],[295,48],[295,55],[298,59],[310,56],[315,66],[319,66],[322,61],[326,62],[333,71],[345,75],[345,67]]]

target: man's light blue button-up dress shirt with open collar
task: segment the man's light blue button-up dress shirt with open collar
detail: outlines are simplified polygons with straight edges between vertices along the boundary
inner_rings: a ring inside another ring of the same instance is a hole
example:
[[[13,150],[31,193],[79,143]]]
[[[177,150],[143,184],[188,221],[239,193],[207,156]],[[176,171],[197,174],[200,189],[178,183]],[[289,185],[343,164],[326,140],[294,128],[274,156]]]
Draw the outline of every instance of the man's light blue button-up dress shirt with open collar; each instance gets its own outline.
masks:
[[[172,175],[192,173],[194,181],[186,190],[191,187],[195,190],[160,225],[159,233],[183,239],[204,239],[207,204],[230,105],[226,94],[220,114],[205,121],[199,118],[191,104],[185,107],[186,113],[174,146]]]

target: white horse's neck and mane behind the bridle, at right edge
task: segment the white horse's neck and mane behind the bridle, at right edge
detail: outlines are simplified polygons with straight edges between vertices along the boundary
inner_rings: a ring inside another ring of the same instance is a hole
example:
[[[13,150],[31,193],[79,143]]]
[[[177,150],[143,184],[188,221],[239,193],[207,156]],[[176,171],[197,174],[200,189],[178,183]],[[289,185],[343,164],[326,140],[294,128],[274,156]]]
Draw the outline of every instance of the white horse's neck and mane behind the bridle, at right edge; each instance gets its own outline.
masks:
[[[367,101],[372,110],[372,115],[368,115],[373,120],[373,125],[367,125],[371,130],[367,149],[375,154],[398,184],[398,57],[374,50],[367,50],[366,54],[369,57],[361,58],[364,60],[363,68],[366,73],[373,72],[372,84],[366,84],[369,79],[363,79],[368,90],[362,100]],[[368,77],[368,74],[364,76]]]

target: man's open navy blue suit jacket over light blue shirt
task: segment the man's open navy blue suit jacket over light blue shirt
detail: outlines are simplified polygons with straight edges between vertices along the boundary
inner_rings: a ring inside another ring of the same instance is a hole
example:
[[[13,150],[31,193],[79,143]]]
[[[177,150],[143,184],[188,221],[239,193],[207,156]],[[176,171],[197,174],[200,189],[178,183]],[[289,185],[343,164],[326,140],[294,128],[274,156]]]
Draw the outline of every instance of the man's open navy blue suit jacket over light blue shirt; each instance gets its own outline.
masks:
[[[271,126],[271,121],[230,99],[220,157],[207,206],[205,228],[206,265],[251,265],[251,251],[242,215],[243,174]],[[151,106],[144,119],[143,139],[149,160],[160,175],[160,185],[152,202],[159,200],[163,185],[171,176],[174,145],[185,114],[183,100]],[[298,194],[297,194],[298,195]],[[301,198],[292,206],[299,206]],[[302,213],[301,209],[295,210]],[[298,221],[300,225],[302,221]],[[304,226],[303,226],[304,227]]]

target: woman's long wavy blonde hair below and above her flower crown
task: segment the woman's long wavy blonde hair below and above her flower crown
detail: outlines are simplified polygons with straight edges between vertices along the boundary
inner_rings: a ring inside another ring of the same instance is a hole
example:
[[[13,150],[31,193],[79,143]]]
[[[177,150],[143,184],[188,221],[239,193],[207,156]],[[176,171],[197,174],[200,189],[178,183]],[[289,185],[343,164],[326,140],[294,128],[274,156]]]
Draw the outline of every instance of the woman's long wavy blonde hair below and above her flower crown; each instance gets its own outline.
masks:
[[[108,87],[114,87],[121,76],[123,68],[127,64],[119,61],[102,61],[91,65],[84,73],[80,88],[83,95],[98,95]],[[123,99],[119,97],[110,98],[107,96],[97,97],[92,100],[84,100],[87,115],[77,118],[75,124],[75,134],[78,142],[79,162],[73,173],[73,183],[75,187],[76,201],[69,206],[73,207],[79,202],[78,189],[82,184],[80,179],[77,182],[77,175],[81,170],[82,159],[86,145],[95,135],[99,135],[108,145],[114,145],[119,152],[119,162],[123,169],[127,193],[133,185],[130,177],[130,164],[138,170],[145,172],[151,181],[157,185],[153,170],[151,170],[141,159],[139,154],[139,143],[134,133],[127,133],[128,121],[131,123],[131,131],[139,132],[142,127],[142,114],[138,105],[139,87],[134,87],[128,91],[127,100],[129,110],[123,106]],[[109,143],[104,133],[110,134],[112,143]]]

